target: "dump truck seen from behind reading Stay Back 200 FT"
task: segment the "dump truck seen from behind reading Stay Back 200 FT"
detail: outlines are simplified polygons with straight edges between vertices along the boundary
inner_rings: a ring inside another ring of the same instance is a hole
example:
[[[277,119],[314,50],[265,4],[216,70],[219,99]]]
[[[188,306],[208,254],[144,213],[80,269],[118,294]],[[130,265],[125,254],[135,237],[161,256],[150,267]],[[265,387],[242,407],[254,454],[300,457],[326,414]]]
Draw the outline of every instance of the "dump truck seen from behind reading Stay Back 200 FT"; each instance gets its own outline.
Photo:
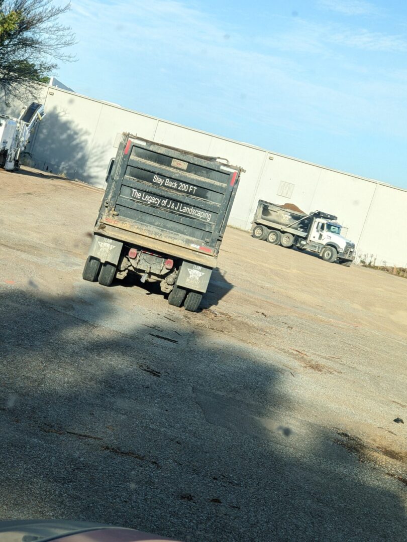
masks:
[[[239,184],[241,167],[124,133],[83,278],[158,282],[170,305],[198,310]]]

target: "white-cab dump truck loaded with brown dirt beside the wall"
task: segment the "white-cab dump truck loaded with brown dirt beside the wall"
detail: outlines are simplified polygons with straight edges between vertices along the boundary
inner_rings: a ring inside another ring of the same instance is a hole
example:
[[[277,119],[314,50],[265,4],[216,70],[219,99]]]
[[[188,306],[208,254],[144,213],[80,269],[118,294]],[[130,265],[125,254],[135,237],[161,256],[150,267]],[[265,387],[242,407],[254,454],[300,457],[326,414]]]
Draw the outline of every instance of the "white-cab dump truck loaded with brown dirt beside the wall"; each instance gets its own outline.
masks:
[[[338,217],[323,211],[307,215],[290,207],[260,199],[252,221],[252,236],[286,248],[309,250],[326,262],[352,265],[355,244],[341,235]]]

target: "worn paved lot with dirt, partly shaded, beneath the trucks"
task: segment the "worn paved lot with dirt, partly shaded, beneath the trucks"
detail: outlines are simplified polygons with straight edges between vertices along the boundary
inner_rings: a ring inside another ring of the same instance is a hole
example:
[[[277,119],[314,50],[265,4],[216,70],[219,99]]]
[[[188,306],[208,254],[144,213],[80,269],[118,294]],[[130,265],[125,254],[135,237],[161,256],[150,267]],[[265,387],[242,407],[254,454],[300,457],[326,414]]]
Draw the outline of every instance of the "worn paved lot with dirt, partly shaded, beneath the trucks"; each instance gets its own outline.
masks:
[[[0,190],[0,517],[405,540],[407,281],[227,228],[188,313],[82,280],[101,190]]]

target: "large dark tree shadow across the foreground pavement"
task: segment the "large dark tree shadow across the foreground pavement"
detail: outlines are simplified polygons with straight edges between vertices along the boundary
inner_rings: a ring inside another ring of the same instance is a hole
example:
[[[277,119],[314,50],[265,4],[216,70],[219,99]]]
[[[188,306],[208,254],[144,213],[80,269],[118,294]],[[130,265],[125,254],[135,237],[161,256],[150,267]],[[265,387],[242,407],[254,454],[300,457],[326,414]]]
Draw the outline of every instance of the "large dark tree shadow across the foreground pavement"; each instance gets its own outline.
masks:
[[[94,287],[1,295],[4,519],[197,542],[405,539],[399,482],[295,416],[272,357],[209,343],[178,313],[115,330],[114,295]]]

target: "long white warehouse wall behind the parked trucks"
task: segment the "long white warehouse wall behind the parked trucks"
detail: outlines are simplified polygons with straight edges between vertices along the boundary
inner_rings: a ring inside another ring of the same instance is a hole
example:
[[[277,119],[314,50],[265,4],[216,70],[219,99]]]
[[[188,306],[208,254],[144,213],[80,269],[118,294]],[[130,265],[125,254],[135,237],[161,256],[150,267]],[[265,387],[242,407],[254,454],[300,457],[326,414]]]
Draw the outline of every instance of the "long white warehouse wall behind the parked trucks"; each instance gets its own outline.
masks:
[[[407,266],[407,190],[283,156],[174,122],[130,111],[54,86],[42,86],[46,117],[31,137],[31,165],[103,187],[122,132],[173,147],[227,158],[242,166],[229,224],[245,230],[259,199],[338,216],[359,256]],[[18,114],[15,104],[8,114]],[[7,111],[4,111],[7,112]]]

